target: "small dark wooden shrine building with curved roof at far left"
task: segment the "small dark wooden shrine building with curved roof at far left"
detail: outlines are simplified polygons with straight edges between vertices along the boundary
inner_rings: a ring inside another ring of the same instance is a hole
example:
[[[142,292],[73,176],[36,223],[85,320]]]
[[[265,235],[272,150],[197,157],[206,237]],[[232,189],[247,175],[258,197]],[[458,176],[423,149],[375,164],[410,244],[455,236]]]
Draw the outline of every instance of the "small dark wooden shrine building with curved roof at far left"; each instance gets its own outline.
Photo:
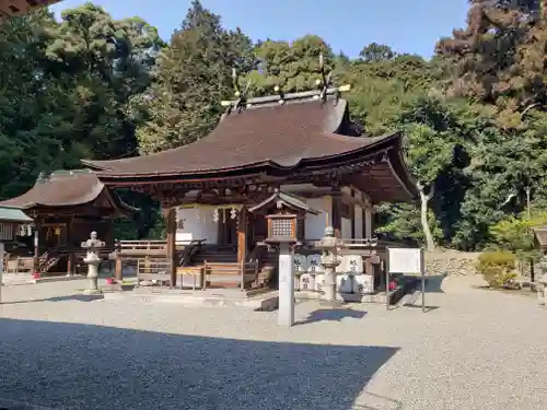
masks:
[[[20,258],[26,270],[40,273],[73,273],[84,254],[81,243],[92,231],[112,251],[114,219],[137,211],[90,169],[40,175],[28,191],[0,204],[20,209],[34,220],[32,229],[19,234],[19,242],[26,246],[11,249],[10,254]]]

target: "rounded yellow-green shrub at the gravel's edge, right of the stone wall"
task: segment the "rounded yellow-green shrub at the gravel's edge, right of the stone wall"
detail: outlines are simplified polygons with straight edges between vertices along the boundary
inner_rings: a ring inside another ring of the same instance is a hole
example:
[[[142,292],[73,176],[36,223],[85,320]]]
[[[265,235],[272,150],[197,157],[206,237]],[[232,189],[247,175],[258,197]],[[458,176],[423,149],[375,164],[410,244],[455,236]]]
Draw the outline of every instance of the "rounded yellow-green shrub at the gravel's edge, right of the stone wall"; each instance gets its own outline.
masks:
[[[479,256],[477,271],[492,288],[509,288],[516,278],[516,256],[510,251],[486,251]]]

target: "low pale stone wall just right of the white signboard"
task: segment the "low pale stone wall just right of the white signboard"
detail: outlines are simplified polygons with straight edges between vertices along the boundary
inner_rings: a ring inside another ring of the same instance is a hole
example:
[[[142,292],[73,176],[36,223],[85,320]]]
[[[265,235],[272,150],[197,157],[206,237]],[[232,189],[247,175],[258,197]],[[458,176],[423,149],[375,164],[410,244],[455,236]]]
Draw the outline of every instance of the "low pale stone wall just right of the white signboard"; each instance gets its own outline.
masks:
[[[458,250],[426,250],[428,274],[475,274],[480,253]]]

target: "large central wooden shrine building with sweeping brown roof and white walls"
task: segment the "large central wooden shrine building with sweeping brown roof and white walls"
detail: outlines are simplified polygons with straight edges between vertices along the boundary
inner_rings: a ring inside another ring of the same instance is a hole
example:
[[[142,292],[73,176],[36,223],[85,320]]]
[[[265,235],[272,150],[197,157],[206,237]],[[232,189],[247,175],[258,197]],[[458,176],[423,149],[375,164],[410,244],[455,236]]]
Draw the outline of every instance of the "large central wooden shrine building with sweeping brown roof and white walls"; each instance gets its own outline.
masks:
[[[223,102],[226,110],[217,128],[194,143],[83,163],[108,187],[130,187],[161,201],[172,282],[177,267],[182,274],[185,267],[191,271],[220,256],[218,273],[225,270],[235,278],[253,261],[259,271],[276,259],[258,246],[267,234],[264,215],[248,210],[276,189],[322,212],[301,222],[304,243],[321,238],[327,224],[339,237],[370,238],[373,204],[417,198],[401,156],[401,134],[361,137],[341,98],[344,89],[324,85],[295,94],[240,96]],[[200,249],[176,257],[176,242]]]

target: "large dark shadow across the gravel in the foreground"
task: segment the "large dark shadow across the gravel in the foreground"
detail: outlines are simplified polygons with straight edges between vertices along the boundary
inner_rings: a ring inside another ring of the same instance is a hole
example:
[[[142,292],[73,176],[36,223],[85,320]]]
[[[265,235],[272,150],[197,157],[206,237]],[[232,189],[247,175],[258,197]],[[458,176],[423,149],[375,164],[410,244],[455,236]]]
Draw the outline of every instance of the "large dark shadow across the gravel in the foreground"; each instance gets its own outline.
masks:
[[[368,393],[366,402],[354,403],[398,348],[235,340],[2,318],[0,329],[0,398],[36,406],[400,409],[398,401],[386,398],[369,405],[373,395]]]

